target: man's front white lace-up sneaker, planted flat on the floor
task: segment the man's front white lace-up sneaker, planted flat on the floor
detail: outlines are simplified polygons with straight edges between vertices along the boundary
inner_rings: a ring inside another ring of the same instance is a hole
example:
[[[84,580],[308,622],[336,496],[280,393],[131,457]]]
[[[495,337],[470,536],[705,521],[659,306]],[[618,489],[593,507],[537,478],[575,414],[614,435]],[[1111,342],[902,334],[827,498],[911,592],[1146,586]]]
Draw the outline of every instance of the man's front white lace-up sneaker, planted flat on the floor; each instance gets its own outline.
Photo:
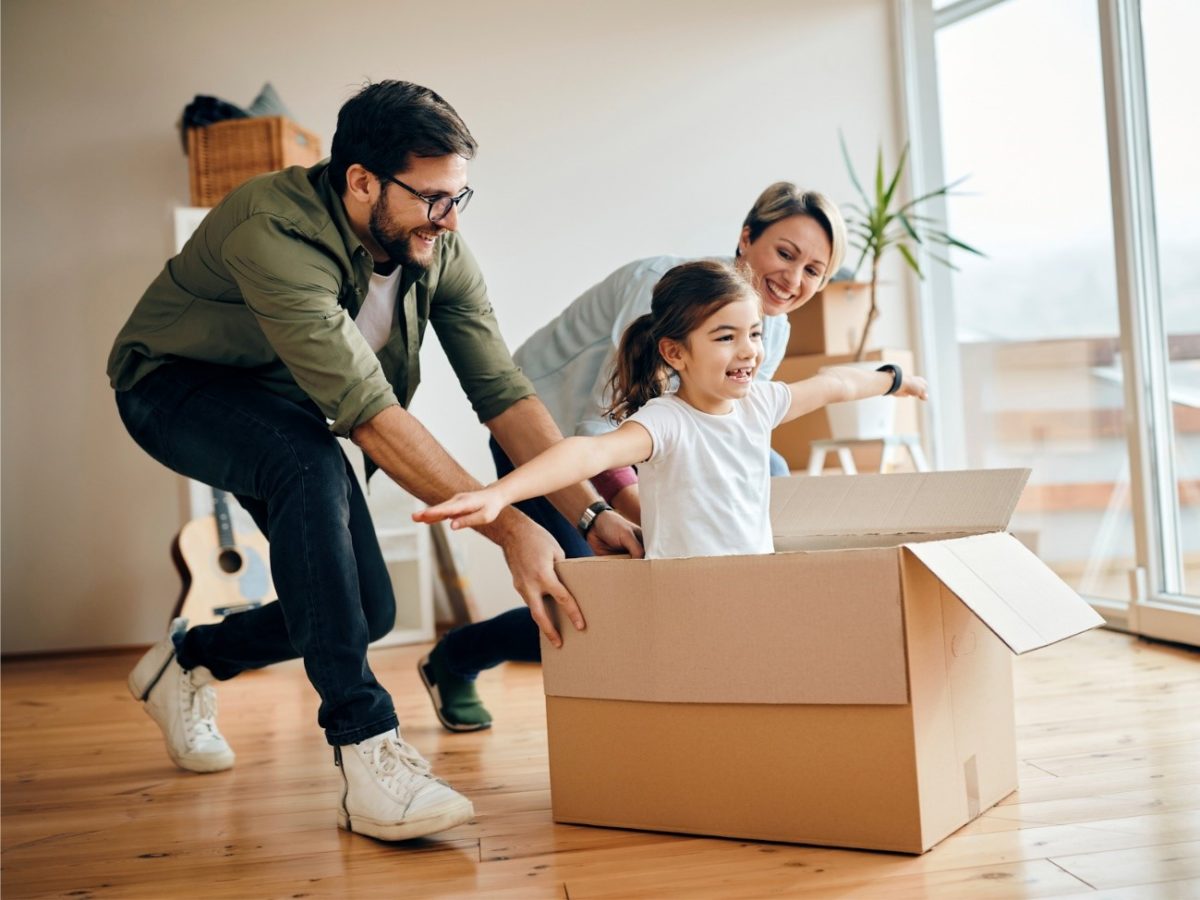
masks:
[[[342,767],[337,824],[347,832],[402,841],[444,832],[475,815],[470,800],[434,778],[400,731],[336,748],[335,758]]]

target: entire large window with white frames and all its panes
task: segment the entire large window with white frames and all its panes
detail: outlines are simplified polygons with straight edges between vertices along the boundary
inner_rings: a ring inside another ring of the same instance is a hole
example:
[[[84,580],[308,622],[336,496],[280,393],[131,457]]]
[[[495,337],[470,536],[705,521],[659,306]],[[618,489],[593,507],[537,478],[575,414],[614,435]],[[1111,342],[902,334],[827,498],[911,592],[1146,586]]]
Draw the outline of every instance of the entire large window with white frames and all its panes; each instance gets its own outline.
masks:
[[[949,230],[988,253],[928,294],[962,384],[936,440],[1030,467],[1014,529],[1046,563],[1200,643],[1200,4],[901,7],[916,187],[970,175]]]

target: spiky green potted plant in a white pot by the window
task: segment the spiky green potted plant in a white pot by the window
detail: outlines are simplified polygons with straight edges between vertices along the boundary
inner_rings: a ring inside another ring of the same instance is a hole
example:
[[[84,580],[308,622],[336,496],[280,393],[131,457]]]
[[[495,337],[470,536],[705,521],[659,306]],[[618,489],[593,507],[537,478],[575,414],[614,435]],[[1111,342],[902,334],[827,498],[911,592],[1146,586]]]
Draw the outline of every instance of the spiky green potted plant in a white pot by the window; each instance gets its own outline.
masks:
[[[841,154],[846,160],[846,168],[850,172],[850,180],[858,191],[862,205],[858,203],[846,206],[846,229],[851,239],[851,246],[859,251],[858,262],[853,266],[852,277],[859,281],[858,272],[863,263],[870,260],[870,276],[862,281],[868,286],[870,304],[866,310],[866,319],[858,336],[858,347],[854,350],[854,360],[859,362],[866,353],[866,341],[870,336],[871,326],[878,318],[878,282],[880,263],[894,247],[904,258],[918,278],[924,278],[924,272],[917,263],[914,246],[958,247],[968,253],[983,256],[974,247],[964,244],[950,236],[944,226],[936,218],[922,214],[923,204],[950,193],[961,184],[962,179],[949,185],[922,194],[916,199],[901,202],[896,193],[900,179],[904,175],[905,166],[908,162],[908,145],[905,144],[900,151],[900,161],[893,172],[888,173],[883,167],[883,148],[878,149],[875,161],[875,184],[871,194],[863,190],[854,173],[854,166],[850,161],[850,152],[846,150],[846,140],[839,133]],[[943,256],[930,252],[930,258],[942,265],[955,269],[953,263]],[[872,368],[876,362],[866,364]],[[829,431],[834,438],[840,439],[865,439],[888,436],[894,430],[895,403],[890,398],[878,398],[876,401],[859,401],[857,403],[833,403],[826,408],[829,419]]]

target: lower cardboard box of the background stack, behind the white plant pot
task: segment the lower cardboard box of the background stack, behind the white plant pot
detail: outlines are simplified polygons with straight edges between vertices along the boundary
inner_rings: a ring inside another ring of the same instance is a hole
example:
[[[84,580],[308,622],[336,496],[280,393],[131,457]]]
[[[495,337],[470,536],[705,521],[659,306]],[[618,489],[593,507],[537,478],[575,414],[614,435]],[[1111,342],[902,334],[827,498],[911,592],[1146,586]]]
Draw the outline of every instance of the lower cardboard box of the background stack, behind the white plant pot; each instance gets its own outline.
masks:
[[[815,376],[822,366],[838,366],[844,362],[850,362],[853,359],[854,355],[851,353],[816,356],[785,356],[784,361],[779,364],[779,368],[775,371],[775,380],[800,382],[805,378]],[[869,362],[895,362],[905,372],[913,371],[911,350],[868,350],[863,359]],[[900,397],[895,401],[895,427],[898,434],[919,433],[918,402],[919,401],[913,397]],[[793,472],[804,472],[809,466],[811,443],[814,440],[824,440],[828,437],[829,419],[826,416],[824,409],[818,409],[815,413],[802,415],[799,419],[793,419],[786,425],[780,425],[774,432],[772,432],[770,445],[778,450],[785,460],[787,460],[788,468]],[[856,446],[852,452],[854,455],[854,464],[858,467],[858,470],[878,470],[882,451],[882,444]],[[836,466],[836,455],[829,454],[826,457],[826,467],[830,468]]]

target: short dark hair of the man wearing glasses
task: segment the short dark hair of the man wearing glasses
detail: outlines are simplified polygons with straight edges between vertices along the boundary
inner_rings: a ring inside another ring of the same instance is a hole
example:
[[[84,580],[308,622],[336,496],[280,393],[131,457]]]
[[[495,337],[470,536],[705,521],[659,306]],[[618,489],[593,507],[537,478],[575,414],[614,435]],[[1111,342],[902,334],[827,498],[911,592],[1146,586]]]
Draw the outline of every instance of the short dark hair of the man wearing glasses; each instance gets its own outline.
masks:
[[[330,151],[329,181],[346,191],[346,170],[359,163],[368,172],[391,175],[408,168],[413,156],[475,156],[475,138],[440,96],[412,82],[368,84],[337,113]]]

